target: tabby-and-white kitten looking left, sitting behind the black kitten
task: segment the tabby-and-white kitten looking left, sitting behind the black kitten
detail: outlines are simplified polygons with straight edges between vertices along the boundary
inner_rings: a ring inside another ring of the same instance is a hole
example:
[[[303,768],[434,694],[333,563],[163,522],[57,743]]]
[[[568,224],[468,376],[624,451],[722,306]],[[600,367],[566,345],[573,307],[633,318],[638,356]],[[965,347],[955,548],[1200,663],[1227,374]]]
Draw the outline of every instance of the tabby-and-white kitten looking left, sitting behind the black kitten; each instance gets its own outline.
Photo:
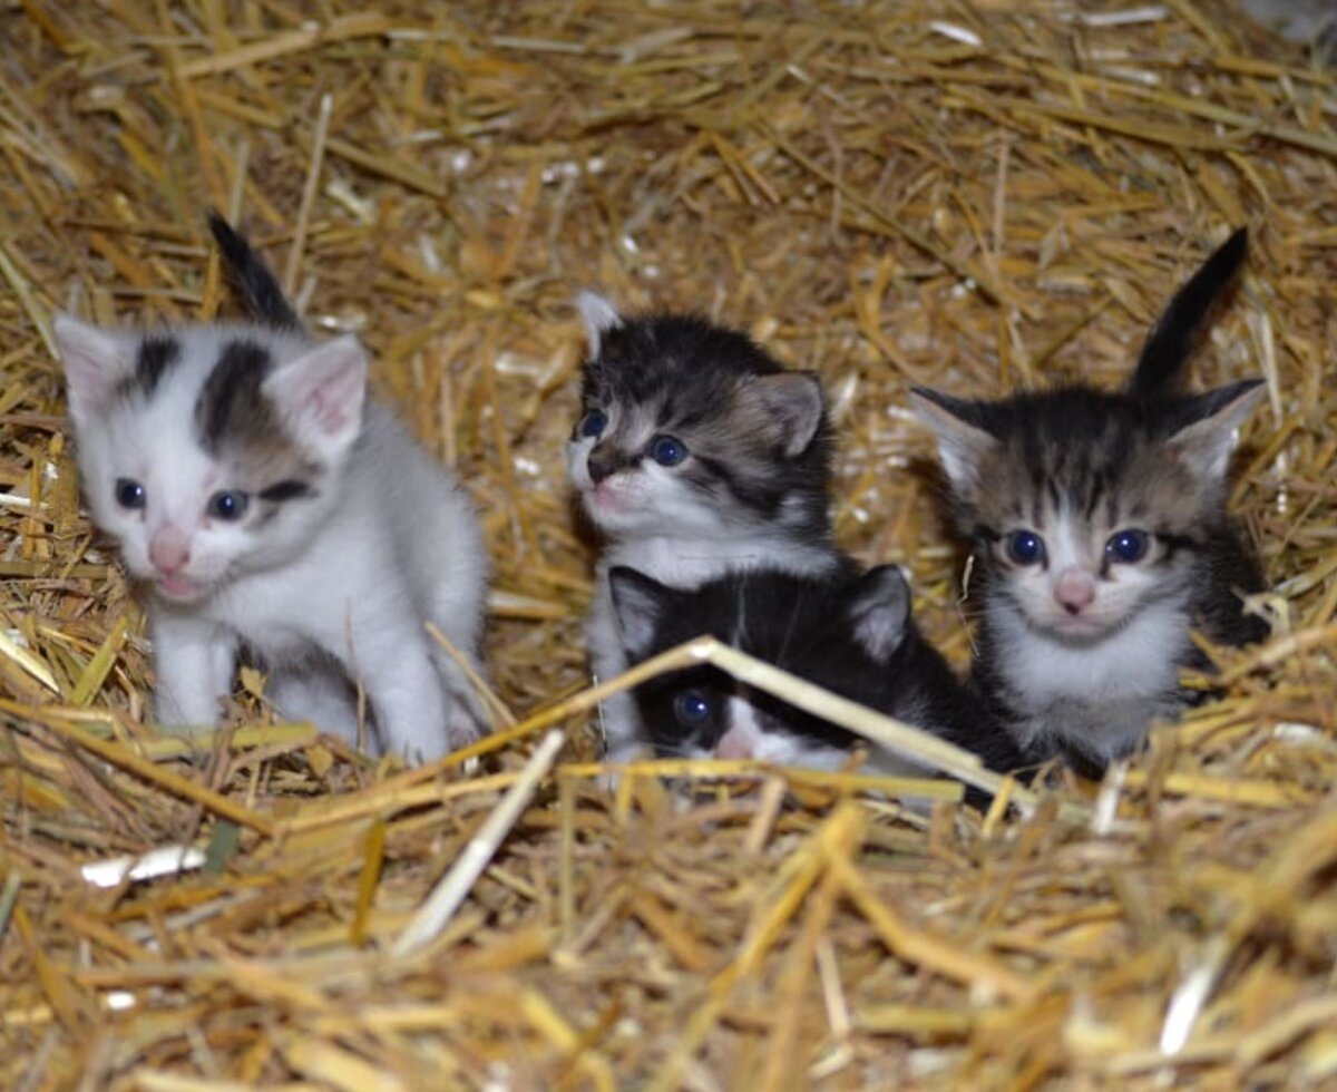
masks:
[[[840,564],[828,515],[821,382],[786,372],[746,335],[699,318],[623,318],[578,299],[588,334],[583,414],[567,444],[582,507],[604,537],[590,612],[594,672],[627,667],[608,571],[628,565],[675,588],[769,565]],[[608,758],[648,740],[626,694],[603,706]]]

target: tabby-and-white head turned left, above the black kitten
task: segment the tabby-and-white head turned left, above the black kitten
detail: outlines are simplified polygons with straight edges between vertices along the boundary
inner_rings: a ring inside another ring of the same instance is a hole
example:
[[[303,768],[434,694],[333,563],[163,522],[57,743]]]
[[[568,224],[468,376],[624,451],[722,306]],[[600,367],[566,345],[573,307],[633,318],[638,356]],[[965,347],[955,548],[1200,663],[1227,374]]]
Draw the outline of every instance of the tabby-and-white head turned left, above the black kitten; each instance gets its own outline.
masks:
[[[828,424],[818,378],[699,318],[623,318],[579,301],[583,412],[567,469],[611,536],[774,527],[825,533]]]

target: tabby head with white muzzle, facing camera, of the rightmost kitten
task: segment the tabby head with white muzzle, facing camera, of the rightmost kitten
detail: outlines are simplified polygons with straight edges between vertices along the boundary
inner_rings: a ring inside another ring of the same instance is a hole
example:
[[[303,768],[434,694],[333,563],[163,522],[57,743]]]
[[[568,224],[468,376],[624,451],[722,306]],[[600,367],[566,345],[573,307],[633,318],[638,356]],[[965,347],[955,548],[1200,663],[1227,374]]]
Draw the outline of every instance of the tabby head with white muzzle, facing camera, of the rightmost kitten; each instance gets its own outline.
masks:
[[[984,569],[985,608],[1015,608],[1080,644],[1146,604],[1183,601],[1195,557],[1221,533],[1237,432],[1262,393],[1258,380],[1167,400],[916,390]]]

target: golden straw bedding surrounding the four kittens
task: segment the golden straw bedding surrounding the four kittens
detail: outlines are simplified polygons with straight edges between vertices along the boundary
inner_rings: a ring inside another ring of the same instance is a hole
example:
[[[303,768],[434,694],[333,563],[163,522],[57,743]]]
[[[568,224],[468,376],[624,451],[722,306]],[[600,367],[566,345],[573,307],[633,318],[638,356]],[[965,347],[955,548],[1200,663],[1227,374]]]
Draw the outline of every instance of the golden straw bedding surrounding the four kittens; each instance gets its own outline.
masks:
[[[1300,47],[1213,0],[23,0],[0,41],[0,1085],[1337,1081],[1337,80]],[[274,723],[250,675],[211,738],[144,720],[48,322],[233,307],[211,204],[480,504],[515,727],[468,769]],[[1277,591],[1221,700],[983,818],[777,770],[602,789],[576,290],[820,369],[840,539],[964,664],[906,386],[1116,384],[1242,223],[1194,382],[1267,378],[1233,504]]]

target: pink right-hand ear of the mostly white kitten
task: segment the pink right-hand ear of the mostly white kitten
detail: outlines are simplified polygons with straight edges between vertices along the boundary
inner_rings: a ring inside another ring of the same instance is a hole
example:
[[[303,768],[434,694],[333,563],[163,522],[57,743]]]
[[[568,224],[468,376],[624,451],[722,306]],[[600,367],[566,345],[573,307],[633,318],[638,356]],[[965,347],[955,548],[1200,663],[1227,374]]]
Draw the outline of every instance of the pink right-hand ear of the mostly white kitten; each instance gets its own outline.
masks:
[[[352,334],[317,345],[277,368],[261,388],[293,438],[329,458],[362,430],[366,350]]]

